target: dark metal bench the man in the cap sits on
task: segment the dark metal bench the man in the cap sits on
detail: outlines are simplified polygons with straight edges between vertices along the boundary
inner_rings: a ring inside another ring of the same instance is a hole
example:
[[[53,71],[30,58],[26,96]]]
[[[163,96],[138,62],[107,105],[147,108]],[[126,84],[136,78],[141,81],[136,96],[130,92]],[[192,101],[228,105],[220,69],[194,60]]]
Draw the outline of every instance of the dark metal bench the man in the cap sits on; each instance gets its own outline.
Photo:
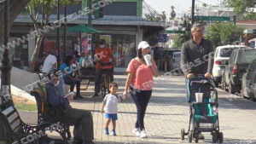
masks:
[[[43,83],[38,82],[37,84]],[[34,90],[31,91],[31,95],[34,96],[37,101],[38,124],[43,124],[46,122],[56,124],[60,122],[62,128],[61,130],[56,130],[56,132],[58,132],[63,138],[63,141],[68,144],[67,140],[70,140],[71,138],[69,126],[74,125],[76,123],[76,119],[73,117],[67,117],[60,111],[60,108],[64,107],[64,105],[58,107],[49,106],[47,101],[46,87],[43,87],[43,89],[35,87]]]

